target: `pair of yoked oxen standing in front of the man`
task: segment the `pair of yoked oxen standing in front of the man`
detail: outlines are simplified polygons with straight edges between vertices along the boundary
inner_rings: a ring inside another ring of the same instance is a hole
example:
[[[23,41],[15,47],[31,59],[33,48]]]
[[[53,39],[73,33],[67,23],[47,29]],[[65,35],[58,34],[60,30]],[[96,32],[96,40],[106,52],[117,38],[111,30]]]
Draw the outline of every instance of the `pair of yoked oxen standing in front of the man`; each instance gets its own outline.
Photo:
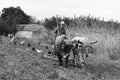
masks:
[[[73,63],[77,66],[78,63],[83,67],[85,64],[85,58],[93,50],[92,45],[97,41],[85,44],[82,42],[85,37],[74,37],[68,39],[64,34],[57,36],[54,44],[54,53],[58,57],[59,65],[62,65],[65,60],[65,67],[67,68],[68,58],[70,53],[73,53]]]

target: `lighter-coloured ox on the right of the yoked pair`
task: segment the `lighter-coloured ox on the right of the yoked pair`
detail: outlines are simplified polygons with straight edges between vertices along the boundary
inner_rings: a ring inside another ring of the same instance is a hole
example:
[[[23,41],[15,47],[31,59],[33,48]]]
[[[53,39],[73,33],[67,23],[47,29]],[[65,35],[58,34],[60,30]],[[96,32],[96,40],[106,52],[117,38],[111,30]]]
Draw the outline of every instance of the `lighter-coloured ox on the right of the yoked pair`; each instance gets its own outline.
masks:
[[[73,62],[75,63],[75,65],[77,65],[77,62],[80,61],[82,67],[85,64],[86,57],[88,57],[88,55],[93,50],[92,45],[97,43],[97,41],[84,43],[84,40],[86,40],[85,37],[74,37],[72,39],[72,42],[74,42],[74,48],[72,49]]]

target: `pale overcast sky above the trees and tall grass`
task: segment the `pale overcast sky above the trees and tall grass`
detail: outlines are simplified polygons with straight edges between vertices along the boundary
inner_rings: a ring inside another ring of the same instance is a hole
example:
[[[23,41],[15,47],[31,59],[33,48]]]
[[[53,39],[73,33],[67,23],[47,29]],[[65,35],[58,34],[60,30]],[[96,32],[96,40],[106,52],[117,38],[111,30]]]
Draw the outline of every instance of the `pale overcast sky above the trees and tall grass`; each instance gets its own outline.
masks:
[[[0,0],[0,11],[7,7],[20,8],[37,19],[52,16],[88,16],[120,22],[120,0]]]

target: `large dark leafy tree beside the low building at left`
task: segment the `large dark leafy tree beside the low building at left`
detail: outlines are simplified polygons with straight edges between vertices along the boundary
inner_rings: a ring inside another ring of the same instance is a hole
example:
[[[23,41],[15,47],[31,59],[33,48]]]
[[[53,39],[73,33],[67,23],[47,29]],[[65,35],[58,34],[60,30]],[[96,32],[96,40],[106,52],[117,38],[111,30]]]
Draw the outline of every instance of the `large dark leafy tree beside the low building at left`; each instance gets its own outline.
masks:
[[[35,23],[35,19],[20,7],[4,8],[0,15],[0,35],[15,34],[20,27],[18,24],[30,23]]]

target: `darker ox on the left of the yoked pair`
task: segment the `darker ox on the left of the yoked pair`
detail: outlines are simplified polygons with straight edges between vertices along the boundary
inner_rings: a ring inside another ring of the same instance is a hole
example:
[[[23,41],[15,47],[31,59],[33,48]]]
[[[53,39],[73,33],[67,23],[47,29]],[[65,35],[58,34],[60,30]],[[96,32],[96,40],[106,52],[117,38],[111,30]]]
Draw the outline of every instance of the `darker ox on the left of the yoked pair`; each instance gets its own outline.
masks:
[[[72,49],[72,42],[68,39],[66,35],[60,35],[56,37],[54,52],[58,57],[59,65],[62,65],[63,58],[65,59],[65,67],[67,67],[67,62],[69,58],[69,53]]]

